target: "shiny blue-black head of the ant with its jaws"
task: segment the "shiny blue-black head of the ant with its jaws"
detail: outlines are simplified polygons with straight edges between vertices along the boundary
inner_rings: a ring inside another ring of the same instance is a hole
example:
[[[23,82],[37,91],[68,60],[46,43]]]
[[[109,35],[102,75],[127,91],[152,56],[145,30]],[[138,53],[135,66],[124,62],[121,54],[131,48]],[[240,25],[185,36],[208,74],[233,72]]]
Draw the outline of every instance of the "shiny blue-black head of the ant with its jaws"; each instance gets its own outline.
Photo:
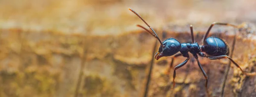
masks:
[[[169,38],[163,41],[163,46],[161,45],[158,52],[155,55],[155,59],[158,60],[161,57],[172,56],[180,51],[181,45],[174,38]]]

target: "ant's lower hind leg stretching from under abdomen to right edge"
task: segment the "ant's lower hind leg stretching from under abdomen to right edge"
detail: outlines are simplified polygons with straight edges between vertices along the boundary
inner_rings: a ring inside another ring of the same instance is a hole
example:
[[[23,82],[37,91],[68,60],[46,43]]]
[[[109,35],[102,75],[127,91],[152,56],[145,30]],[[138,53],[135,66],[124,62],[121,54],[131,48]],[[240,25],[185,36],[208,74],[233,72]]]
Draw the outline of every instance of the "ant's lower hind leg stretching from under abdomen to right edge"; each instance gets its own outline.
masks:
[[[209,57],[209,56],[206,56],[206,57],[207,57],[208,59],[210,59],[210,60],[216,60],[216,59],[221,59],[221,58],[228,58],[232,63],[234,63],[234,64],[236,65],[236,67],[238,67],[238,68],[242,71],[243,74],[245,74],[245,75],[247,75],[247,76],[256,75],[256,72],[252,72],[252,73],[250,73],[250,72],[244,72],[244,71],[242,70],[242,68],[241,68],[232,58],[228,57],[227,55],[221,55],[221,56],[216,56],[216,57]]]

